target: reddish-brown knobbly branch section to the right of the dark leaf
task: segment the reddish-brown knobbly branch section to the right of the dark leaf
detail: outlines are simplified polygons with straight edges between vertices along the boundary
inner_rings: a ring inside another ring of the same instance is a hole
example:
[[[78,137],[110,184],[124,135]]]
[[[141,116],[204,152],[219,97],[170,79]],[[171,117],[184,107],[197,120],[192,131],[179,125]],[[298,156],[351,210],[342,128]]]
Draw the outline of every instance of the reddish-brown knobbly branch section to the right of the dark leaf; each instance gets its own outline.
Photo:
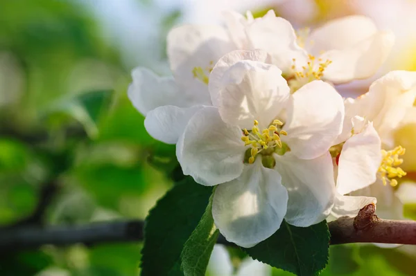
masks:
[[[328,223],[331,245],[340,243],[397,243],[416,245],[416,221],[379,219],[369,204],[357,217],[341,217]]]

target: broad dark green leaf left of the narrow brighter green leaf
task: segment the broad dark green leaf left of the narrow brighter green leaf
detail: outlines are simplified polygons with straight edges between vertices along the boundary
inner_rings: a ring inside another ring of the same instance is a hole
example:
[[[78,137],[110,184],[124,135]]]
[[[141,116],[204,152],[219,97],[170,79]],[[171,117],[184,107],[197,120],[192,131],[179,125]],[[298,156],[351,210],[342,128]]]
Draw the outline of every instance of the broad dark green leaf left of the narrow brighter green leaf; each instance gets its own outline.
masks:
[[[185,178],[150,210],[144,228],[141,275],[183,275],[180,255],[205,213],[212,188]]]

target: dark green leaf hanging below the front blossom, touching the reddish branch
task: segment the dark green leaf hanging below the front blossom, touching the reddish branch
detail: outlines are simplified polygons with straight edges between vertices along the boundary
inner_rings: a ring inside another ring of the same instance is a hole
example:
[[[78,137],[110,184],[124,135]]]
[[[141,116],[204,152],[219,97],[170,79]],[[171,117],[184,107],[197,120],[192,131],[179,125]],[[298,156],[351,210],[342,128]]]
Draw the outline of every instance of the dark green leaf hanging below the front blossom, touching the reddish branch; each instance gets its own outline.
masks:
[[[319,275],[329,257],[327,222],[301,228],[283,221],[275,234],[246,251],[253,259],[299,276]]]

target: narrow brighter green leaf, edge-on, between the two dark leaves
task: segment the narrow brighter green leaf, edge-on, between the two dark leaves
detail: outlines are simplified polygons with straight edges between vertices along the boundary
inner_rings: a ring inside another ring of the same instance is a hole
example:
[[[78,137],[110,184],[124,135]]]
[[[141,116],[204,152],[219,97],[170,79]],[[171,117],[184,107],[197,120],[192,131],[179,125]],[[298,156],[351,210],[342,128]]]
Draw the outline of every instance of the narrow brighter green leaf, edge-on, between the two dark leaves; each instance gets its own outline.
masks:
[[[211,196],[205,214],[182,250],[181,268],[184,275],[205,275],[209,257],[211,257],[218,234],[219,231],[214,225],[214,218],[212,217]]]

